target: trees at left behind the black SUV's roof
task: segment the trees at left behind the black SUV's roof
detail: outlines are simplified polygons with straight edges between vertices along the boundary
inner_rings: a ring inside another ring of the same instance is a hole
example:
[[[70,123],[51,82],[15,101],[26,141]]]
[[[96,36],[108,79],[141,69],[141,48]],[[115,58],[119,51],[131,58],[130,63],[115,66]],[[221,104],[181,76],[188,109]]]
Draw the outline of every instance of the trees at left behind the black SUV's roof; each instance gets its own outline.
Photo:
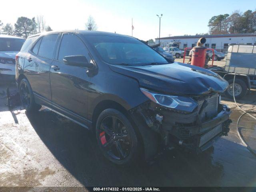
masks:
[[[36,19],[27,17],[19,17],[14,24],[10,23],[3,24],[0,20],[0,33],[6,35],[16,35],[23,38],[28,38],[28,36],[44,31],[52,31],[50,26],[46,25],[43,16],[37,16]]]

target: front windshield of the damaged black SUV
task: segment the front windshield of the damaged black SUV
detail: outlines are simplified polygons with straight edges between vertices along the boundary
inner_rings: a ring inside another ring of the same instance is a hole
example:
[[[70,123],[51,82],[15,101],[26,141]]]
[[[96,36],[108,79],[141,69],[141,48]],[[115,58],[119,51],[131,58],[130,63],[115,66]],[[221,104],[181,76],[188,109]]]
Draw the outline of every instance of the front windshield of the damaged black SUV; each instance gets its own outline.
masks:
[[[93,35],[87,40],[109,64],[142,66],[168,63],[163,56],[135,38]]]

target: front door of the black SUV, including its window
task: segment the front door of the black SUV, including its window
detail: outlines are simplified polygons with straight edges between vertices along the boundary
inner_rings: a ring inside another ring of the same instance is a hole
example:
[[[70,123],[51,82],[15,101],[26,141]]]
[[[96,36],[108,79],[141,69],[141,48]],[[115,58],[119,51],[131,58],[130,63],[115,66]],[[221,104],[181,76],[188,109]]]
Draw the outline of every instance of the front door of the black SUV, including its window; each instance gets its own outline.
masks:
[[[83,55],[92,62],[84,42],[75,34],[64,33],[50,68],[52,106],[60,113],[84,122],[88,111],[88,68],[64,64],[63,58],[71,55]]]

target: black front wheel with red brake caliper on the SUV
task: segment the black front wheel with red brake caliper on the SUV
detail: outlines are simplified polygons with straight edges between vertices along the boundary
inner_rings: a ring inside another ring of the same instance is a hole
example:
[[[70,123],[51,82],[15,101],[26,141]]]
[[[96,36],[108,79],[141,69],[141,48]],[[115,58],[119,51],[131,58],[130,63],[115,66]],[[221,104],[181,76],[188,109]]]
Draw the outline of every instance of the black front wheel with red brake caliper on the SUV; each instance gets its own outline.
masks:
[[[96,139],[103,155],[114,164],[126,166],[138,160],[138,135],[122,112],[109,108],[100,113]]]

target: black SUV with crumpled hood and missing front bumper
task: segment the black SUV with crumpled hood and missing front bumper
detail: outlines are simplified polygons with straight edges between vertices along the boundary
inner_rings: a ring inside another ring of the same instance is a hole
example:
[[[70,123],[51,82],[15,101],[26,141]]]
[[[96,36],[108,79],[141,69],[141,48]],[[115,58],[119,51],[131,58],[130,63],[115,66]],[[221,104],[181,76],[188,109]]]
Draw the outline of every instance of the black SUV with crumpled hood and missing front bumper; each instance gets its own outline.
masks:
[[[230,109],[220,103],[226,80],[170,64],[136,38],[76,30],[26,42],[16,58],[24,108],[44,105],[92,130],[115,164],[148,160],[160,146],[201,152],[229,130]]]

